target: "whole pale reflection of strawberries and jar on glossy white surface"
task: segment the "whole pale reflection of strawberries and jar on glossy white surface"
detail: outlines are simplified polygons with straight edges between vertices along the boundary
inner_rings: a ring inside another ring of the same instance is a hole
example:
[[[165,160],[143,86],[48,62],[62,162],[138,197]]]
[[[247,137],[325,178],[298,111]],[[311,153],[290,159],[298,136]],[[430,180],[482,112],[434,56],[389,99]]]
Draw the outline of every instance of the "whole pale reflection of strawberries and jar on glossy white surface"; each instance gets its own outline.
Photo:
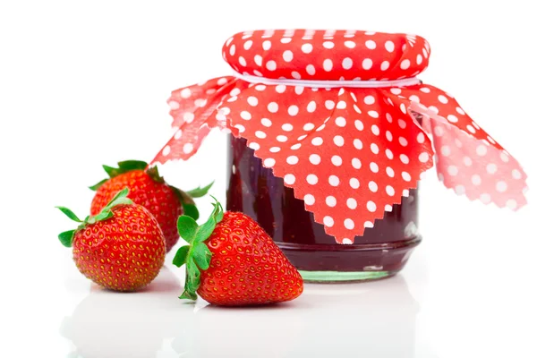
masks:
[[[220,308],[177,298],[164,268],[145,292],[94,286],[61,333],[70,358],[414,357],[418,304],[404,277],[365,284],[312,285],[291,303]]]

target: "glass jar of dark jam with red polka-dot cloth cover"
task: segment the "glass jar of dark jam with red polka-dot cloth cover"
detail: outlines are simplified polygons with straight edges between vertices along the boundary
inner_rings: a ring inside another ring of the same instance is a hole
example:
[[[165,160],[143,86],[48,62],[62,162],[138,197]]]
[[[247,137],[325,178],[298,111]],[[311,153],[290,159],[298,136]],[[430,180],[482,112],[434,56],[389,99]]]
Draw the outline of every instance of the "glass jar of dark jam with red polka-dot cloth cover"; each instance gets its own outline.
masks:
[[[228,38],[233,76],[175,90],[154,162],[229,134],[227,209],[260,223],[311,281],[389,277],[420,243],[417,186],[433,166],[458,195],[525,204],[526,175],[456,99],[416,76],[419,36],[256,30]],[[491,170],[491,169],[494,170]]]

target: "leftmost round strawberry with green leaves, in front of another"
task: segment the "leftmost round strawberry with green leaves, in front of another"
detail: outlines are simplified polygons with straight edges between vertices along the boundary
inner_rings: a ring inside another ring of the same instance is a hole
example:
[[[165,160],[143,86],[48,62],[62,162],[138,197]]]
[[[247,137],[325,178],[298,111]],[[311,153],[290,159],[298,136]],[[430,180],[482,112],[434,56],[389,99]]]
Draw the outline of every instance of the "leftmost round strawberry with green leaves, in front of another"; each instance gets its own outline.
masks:
[[[72,258],[81,273],[96,284],[115,291],[134,291],[158,275],[166,256],[166,243],[158,222],[147,209],[118,192],[96,216],[83,221],[67,208],[57,207],[80,223],[76,230],[59,234],[72,246]]]

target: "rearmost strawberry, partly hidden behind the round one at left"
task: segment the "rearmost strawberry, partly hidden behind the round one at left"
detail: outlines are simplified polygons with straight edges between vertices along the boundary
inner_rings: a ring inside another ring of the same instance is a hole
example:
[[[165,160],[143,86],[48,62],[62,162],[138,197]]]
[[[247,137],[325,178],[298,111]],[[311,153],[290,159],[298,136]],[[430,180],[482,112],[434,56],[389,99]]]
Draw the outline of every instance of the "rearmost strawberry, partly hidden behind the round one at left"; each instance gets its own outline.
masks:
[[[166,238],[166,251],[172,250],[179,240],[177,217],[184,212],[197,220],[200,215],[192,198],[205,195],[212,183],[204,188],[183,192],[168,185],[158,175],[157,166],[148,168],[147,163],[139,160],[126,160],[117,164],[116,168],[103,166],[110,178],[90,187],[97,191],[91,201],[91,215],[97,215],[117,192],[127,187],[131,191],[129,198],[144,206],[157,219]]]

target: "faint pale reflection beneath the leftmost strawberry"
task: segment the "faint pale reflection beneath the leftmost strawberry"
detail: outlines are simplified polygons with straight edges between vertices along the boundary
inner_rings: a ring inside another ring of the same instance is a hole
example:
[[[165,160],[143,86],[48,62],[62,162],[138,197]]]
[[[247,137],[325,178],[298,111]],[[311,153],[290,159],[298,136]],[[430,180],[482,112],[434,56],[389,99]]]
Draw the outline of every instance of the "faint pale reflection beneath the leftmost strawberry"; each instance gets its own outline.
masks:
[[[192,304],[183,305],[177,298],[182,289],[166,267],[138,293],[115,293],[92,286],[62,325],[62,334],[76,347],[69,357],[161,356],[166,337],[182,335],[183,325],[193,318]]]

